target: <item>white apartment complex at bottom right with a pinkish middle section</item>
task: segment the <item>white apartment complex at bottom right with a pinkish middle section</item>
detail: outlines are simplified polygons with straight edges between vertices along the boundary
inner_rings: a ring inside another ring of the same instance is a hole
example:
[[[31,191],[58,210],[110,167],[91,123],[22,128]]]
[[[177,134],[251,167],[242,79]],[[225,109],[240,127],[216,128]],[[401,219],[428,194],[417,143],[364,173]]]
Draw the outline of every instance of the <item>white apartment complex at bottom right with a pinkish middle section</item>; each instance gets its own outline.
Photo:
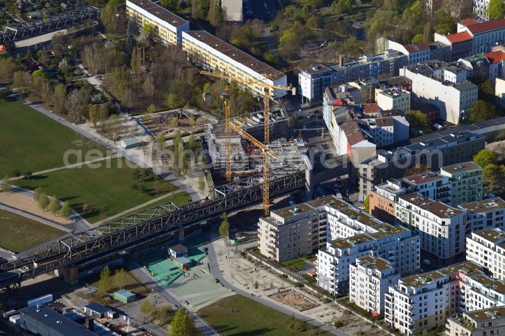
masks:
[[[466,261],[402,277],[389,287],[384,300],[386,324],[413,335],[444,327],[445,321],[456,314],[505,306],[505,284],[494,279],[484,266]]]

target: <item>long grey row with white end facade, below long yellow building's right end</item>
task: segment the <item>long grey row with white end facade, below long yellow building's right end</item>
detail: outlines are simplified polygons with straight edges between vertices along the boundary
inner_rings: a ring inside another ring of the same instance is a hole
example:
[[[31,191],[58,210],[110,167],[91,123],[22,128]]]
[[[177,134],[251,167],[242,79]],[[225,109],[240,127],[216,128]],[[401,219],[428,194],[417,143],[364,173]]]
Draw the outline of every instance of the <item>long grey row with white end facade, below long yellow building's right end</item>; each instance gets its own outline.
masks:
[[[307,101],[320,101],[327,86],[358,81],[360,83],[356,83],[356,87],[366,88],[370,83],[362,80],[376,80],[382,75],[398,76],[399,69],[406,64],[407,56],[395,50],[386,50],[377,55],[367,54],[350,61],[344,61],[343,57],[340,57],[336,64],[302,68],[298,75],[298,89],[302,100],[305,98]],[[375,88],[375,85],[373,86]],[[371,102],[368,97],[369,95],[363,94],[364,103]]]

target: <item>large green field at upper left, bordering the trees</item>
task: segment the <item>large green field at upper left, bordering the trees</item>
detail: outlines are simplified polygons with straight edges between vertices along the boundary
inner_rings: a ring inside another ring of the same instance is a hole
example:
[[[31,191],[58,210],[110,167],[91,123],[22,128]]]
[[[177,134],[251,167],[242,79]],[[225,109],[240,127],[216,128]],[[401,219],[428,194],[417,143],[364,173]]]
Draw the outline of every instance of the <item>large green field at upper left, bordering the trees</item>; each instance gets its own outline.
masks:
[[[75,132],[18,101],[0,102],[0,120],[0,179],[14,169],[33,173],[61,167],[65,151],[89,149],[74,143]],[[91,148],[99,148],[88,142]]]

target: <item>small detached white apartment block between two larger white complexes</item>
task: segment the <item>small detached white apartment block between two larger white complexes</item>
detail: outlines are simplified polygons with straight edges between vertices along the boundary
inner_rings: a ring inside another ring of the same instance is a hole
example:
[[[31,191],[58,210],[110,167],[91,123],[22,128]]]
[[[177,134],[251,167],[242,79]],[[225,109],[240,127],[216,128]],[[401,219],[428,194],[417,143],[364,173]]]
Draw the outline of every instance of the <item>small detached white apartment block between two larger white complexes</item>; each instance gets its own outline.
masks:
[[[349,265],[349,301],[372,314],[383,314],[384,295],[399,277],[393,263],[384,258],[358,258]]]

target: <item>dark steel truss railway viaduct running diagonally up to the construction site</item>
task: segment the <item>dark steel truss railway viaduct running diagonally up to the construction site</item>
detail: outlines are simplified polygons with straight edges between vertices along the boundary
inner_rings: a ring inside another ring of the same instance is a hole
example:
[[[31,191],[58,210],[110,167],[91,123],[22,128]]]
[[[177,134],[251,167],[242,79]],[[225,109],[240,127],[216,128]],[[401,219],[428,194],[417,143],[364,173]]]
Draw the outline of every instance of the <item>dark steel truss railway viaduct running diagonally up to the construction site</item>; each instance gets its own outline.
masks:
[[[279,196],[306,187],[306,171],[270,182],[270,195]],[[261,176],[229,183],[206,199],[177,207],[169,202],[48,244],[32,255],[0,265],[0,289],[21,286],[25,279],[58,270],[67,280],[78,267],[99,262],[123,251],[143,249],[203,228],[206,220],[262,202]],[[177,236],[176,236],[177,235]]]

